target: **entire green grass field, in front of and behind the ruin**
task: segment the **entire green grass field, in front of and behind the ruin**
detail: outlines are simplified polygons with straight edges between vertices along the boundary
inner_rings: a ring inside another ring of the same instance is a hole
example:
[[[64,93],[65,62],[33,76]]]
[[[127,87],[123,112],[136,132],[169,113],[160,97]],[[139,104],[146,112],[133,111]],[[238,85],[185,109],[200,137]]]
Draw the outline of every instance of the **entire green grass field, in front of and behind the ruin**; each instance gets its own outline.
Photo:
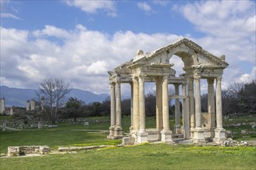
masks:
[[[251,121],[250,117],[238,118],[238,122]],[[50,129],[0,131],[0,152],[6,153],[11,145],[48,145],[51,150],[57,150],[59,146],[121,143],[121,140],[106,139],[109,134],[106,117],[90,117],[88,121],[89,126],[58,124],[58,128]],[[124,132],[128,132],[130,117],[123,117],[122,121]],[[155,118],[147,117],[146,123],[147,128],[154,128]],[[170,124],[172,127],[174,121]],[[224,121],[224,124],[231,122]],[[243,139],[239,128],[229,128],[237,131],[237,139]],[[247,125],[240,128],[253,131]],[[255,139],[254,134],[247,138]],[[256,169],[256,147],[152,144],[79,151],[77,154],[0,158],[0,163],[1,169]]]

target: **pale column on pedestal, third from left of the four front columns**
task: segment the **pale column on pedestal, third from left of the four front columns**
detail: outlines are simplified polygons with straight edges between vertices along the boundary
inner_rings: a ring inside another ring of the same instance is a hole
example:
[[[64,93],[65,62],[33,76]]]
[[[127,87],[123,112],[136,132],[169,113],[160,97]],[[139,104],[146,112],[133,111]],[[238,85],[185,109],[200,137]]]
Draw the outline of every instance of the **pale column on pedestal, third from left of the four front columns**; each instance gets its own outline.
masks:
[[[195,77],[195,131],[194,142],[205,143],[202,129],[200,77]]]

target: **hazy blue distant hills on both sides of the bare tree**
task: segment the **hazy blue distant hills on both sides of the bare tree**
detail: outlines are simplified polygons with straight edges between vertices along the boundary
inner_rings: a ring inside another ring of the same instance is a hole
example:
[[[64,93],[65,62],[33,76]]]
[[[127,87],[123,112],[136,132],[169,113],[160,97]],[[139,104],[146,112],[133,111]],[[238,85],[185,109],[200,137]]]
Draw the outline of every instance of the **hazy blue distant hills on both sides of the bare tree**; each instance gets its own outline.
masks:
[[[6,107],[26,107],[26,100],[36,100],[36,90],[0,86],[0,97],[5,97]],[[95,94],[86,90],[72,89],[67,94],[68,97],[76,97],[78,100],[83,100],[86,104],[89,104],[95,101],[102,102],[108,97],[108,94]]]

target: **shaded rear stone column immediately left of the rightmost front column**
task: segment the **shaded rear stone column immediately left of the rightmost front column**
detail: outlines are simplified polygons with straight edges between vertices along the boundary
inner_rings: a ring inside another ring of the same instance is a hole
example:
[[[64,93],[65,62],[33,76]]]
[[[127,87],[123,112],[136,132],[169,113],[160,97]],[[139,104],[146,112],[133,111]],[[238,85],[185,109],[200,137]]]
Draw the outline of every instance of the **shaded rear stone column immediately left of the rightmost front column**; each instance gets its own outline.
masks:
[[[211,122],[210,122],[210,138],[213,139],[214,137],[214,130],[216,128],[215,124],[215,101],[214,101],[214,78],[209,78],[207,79],[208,83],[208,113],[210,114],[211,117]]]

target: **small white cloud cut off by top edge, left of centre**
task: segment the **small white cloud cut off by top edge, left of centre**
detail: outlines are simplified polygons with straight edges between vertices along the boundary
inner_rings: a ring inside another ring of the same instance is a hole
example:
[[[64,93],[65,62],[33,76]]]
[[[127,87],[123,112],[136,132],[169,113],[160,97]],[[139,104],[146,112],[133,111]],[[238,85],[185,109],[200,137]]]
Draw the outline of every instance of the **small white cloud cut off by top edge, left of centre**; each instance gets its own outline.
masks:
[[[83,12],[96,13],[100,10],[107,12],[109,16],[115,17],[116,6],[112,1],[76,1],[76,0],[67,0],[65,1],[67,5],[80,8]]]

